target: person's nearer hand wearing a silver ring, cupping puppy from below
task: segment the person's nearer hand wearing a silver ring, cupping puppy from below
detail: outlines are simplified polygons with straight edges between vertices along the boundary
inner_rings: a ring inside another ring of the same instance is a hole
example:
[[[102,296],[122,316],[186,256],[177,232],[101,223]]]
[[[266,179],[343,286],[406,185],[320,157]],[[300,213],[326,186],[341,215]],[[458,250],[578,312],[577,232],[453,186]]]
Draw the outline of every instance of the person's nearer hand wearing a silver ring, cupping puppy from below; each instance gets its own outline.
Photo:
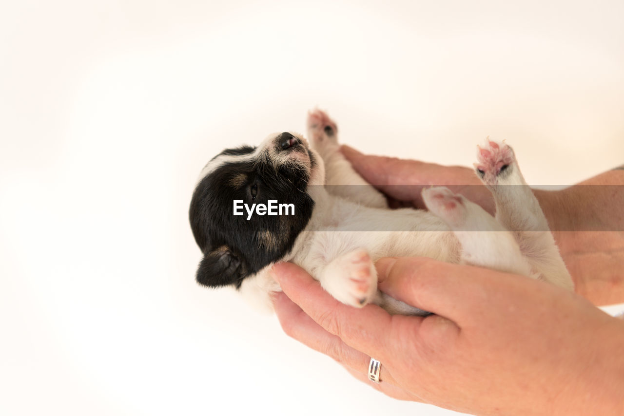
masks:
[[[285,332],[397,399],[483,415],[624,412],[624,321],[524,276],[424,258],[376,266],[379,289],[435,314],[349,307],[281,263],[272,273]],[[368,381],[371,356],[381,384]]]

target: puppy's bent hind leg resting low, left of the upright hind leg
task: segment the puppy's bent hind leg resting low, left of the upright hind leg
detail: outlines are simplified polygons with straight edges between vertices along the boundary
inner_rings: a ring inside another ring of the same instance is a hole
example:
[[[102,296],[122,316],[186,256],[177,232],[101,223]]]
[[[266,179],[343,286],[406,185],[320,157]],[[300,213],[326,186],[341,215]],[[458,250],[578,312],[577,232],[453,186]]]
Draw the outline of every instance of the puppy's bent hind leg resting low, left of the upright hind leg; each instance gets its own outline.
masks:
[[[447,188],[423,190],[422,199],[459,239],[462,263],[535,277],[512,233],[479,205]]]

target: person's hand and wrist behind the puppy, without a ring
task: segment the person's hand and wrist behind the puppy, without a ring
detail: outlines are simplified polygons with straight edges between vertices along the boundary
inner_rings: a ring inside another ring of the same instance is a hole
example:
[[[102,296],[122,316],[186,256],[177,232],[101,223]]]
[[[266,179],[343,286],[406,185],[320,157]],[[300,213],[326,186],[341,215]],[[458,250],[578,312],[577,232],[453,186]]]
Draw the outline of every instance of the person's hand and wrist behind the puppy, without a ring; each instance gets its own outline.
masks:
[[[363,155],[343,146],[356,172],[391,206],[426,208],[422,188],[441,185],[494,214],[492,193],[472,169]],[[624,302],[624,170],[612,170],[563,191],[533,190],[575,284],[593,304]]]

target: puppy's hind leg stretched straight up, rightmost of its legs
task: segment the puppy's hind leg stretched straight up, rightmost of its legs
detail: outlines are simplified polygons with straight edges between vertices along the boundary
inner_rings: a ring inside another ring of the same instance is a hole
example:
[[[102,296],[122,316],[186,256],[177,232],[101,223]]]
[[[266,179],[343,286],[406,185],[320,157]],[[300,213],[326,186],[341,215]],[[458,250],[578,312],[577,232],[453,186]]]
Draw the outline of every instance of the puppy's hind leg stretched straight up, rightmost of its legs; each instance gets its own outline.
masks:
[[[514,233],[520,251],[541,279],[573,289],[572,278],[559,254],[548,222],[529,188],[514,150],[505,143],[485,141],[477,152],[477,175],[494,195],[496,219]]]

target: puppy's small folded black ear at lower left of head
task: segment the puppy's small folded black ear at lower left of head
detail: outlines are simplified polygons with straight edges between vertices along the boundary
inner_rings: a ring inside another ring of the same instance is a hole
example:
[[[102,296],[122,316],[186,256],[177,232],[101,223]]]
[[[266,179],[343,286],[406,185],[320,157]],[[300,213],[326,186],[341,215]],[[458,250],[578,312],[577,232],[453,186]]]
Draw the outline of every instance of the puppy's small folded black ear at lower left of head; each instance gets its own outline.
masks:
[[[245,263],[227,246],[206,253],[197,268],[197,282],[210,288],[228,284],[238,287],[245,276]]]

